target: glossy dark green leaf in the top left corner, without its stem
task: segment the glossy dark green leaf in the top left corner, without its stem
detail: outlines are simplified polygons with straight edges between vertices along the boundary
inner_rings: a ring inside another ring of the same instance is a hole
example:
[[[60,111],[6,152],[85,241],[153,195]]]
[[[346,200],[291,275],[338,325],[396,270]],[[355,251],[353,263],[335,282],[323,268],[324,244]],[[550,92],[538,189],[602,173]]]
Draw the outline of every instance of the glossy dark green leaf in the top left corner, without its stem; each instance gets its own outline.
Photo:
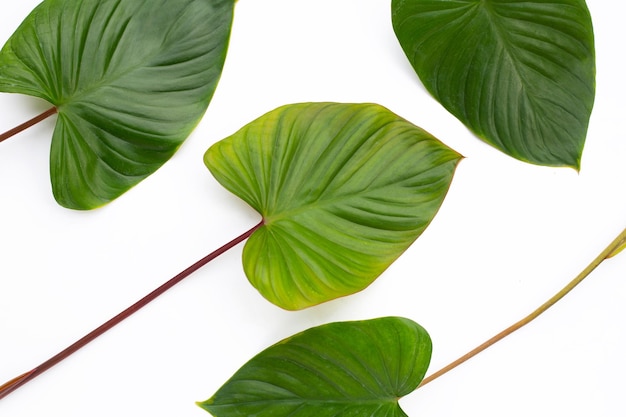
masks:
[[[0,53],[0,91],[57,107],[57,201],[105,204],[156,171],[206,111],[234,0],[46,0]]]

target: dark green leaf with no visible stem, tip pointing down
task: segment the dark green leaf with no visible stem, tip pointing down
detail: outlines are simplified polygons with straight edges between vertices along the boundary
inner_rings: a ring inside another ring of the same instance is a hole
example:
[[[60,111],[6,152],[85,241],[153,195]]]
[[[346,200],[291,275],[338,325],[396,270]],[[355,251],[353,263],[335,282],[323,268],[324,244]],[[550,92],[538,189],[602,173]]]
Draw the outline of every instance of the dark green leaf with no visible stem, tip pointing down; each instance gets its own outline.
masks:
[[[584,0],[393,0],[392,21],[426,88],[477,136],[579,169],[595,95]]]

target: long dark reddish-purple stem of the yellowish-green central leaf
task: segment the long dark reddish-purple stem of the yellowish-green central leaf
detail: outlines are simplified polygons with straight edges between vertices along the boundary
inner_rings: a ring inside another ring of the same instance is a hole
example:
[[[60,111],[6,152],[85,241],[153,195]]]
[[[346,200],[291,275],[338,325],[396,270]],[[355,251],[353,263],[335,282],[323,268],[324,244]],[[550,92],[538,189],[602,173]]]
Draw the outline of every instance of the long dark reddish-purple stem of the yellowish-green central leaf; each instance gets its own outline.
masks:
[[[181,282],[183,279],[187,278],[189,275],[191,275],[192,273],[194,273],[195,271],[197,271],[198,269],[206,265],[211,260],[217,258],[218,256],[220,256],[227,250],[243,242],[248,237],[250,237],[250,235],[252,235],[252,233],[254,233],[262,225],[263,225],[263,221],[261,221],[259,224],[257,224],[256,226],[254,226],[252,229],[248,230],[247,232],[243,233],[242,235],[231,240],[224,246],[211,252],[204,258],[200,259],[199,261],[197,261],[196,263],[194,263],[193,265],[191,265],[190,267],[180,272],[178,275],[176,275],[175,277],[173,277],[172,279],[170,279],[169,281],[167,281],[166,283],[164,283],[163,285],[161,285],[160,287],[152,291],[150,294],[146,295],[141,300],[137,301],[135,304],[131,305],[126,310],[119,313],[117,316],[113,317],[109,321],[100,325],[98,328],[92,330],[90,333],[83,336],[82,338],[80,338],[79,340],[77,340],[76,342],[68,346],[67,348],[63,349],[61,352],[57,353],[56,355],[46,360],[45,362],[41,363],[39,366],[33,368],[32,370],[16,378],[13,378],[12,380],[5,383],[4,385],[0,385],[0,399],[6,397],[11,392],[15,391],[17,388],[21,387],[22,385],[24,385],[31,379],[35,378],[36,376],[52,368],[54,365],[61,362],[63,359],[66,359],[68,356],[75,353],[80,348],[84,347],[85,345],[87,345],[89,342],[91,342],[98,336],[101,336],[106,331],[110,330],[117,324],[121,323],[123,320],[127,319],[128,317],[130,317],[131,315],[139,311],[141,308],[148,305],[151,301],[156,299],[158,296],[162,295],[164,292],[172,288],[174,285]]]

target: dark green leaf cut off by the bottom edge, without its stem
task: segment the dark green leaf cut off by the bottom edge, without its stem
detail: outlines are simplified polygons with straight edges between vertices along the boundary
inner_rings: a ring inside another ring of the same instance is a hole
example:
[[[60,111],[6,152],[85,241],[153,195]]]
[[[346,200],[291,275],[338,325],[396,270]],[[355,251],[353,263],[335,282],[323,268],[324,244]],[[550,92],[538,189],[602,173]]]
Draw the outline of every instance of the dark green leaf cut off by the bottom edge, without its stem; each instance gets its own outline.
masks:
[[[431,351],[409,319],[326,324],[264,350],[199,405],[216,417],[406,416],[398,399],[422,381]]]

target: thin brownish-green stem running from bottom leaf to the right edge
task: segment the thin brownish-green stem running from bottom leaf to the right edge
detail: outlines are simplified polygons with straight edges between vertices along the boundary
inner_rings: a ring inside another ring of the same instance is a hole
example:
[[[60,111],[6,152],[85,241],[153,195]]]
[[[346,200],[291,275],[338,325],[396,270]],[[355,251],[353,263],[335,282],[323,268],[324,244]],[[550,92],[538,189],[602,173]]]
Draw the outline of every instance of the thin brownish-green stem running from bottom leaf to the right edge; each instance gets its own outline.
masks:
[[[580,284],[585,278],[587,278],[587,276],[594,269],[596,269],[598,265],[600,265],[605,259],[609,258],[612,255],[616,255],[617,252],[619,252],[618,249],[621,246],[623,246],[625,242],[626,242],[626,229],[624,229],[622,233],[620,233],[620,235],[617,238],[615,238],[615,240],[613,240],[613,242],[611,242],[609,246],[607,246],[606,249],[604,249],[602,253],[600,253],[600,255],[598,255],[580,274],[578,274],[576,278],[574,278],[569,284],[567,284],[561,291],[555,294],[552,298],[550,298],[548,301],[542,304],[538,309],[536,309],[535,311],[533,311],[532,313],[530,313],[528,316],[524,317],[517,323],[513,324],[512,326],[507,327],[506,329],[504,329],[503,331],[501,331],[500,333],[498,333],[491,339],[487,340],[480,346],[477,346],[470,352],[461,356],[454,362],[441,368],[439,371],[435,372],[434,374],[424,378],[418,388],[421,388],[424,385],[428,384],[429,382],[434,381],[435,379],[439,378],[443,374],[447,373],[448,371],[451,371],[452,369],[456,368],[463,362],[467,361],[468,359],[471,359],[472,357],[476,356],[483,350],[487,349],[489,346],[495,344],[496,342],[499,342],[500,340],[504,339],[511,333],[515,332],[516,330],[519,330],[520,328],[524,327],[525,325],[527,325],[528,323],[530,323],[531,321],[539,317],[547,309],[549,309],[554,304],[556,304],[557,301],[565,297],[571,290],[574,289],[574,287]]]

